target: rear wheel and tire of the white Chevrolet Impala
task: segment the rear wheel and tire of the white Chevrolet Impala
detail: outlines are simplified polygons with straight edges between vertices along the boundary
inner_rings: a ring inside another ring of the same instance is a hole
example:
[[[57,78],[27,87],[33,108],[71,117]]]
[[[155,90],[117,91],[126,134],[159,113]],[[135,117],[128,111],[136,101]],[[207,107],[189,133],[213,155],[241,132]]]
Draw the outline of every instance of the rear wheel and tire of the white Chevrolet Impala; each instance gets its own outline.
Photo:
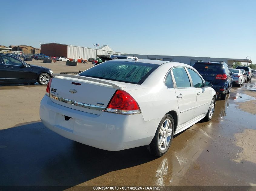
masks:
[[[165,115],[160,121],[155,136],[149,145],[151,154],[163,156],[170,148],[174,135],[174,119],[171,115]]]

